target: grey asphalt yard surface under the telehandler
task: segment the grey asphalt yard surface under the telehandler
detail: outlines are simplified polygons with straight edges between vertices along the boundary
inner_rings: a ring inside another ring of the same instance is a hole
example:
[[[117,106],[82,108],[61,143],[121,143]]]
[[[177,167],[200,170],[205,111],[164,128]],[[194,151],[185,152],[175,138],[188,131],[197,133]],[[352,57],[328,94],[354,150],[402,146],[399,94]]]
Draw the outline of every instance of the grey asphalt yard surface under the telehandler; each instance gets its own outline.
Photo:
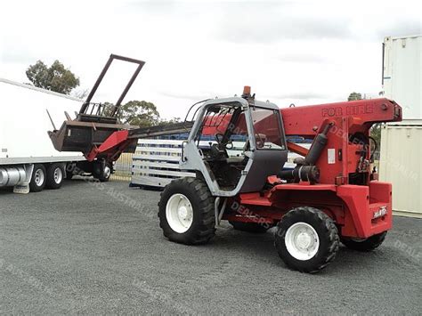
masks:
[[[422,220],[394,218],[372,253],[288,270],[272,231],[224,224],[183,246],[158,227],[159,192],[125,182],[0,190],[0,313],[409,313],[422,305]]]

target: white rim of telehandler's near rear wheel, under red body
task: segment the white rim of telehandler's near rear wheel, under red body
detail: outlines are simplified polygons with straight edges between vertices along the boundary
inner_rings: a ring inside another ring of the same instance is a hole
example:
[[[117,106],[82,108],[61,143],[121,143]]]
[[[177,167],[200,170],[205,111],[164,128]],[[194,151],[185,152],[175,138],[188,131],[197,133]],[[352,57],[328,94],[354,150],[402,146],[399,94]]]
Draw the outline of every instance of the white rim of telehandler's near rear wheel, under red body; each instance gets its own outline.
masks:
[[[320,248],[318,233],[308,223],[298,222],[291,225],[284,240],[288,253],[301,261],[312,259]]]

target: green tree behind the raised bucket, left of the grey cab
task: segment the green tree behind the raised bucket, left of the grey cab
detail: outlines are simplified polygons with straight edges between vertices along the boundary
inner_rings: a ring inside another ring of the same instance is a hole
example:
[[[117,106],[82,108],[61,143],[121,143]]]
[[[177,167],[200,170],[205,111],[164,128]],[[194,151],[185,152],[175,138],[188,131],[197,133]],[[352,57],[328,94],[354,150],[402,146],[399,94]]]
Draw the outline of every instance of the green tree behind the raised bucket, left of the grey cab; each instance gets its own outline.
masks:
[[[147,101],[128,101],[120,106],[118,119],[123,124],[132,126],[157,126],[160,122],[159,113],[154,103]]]

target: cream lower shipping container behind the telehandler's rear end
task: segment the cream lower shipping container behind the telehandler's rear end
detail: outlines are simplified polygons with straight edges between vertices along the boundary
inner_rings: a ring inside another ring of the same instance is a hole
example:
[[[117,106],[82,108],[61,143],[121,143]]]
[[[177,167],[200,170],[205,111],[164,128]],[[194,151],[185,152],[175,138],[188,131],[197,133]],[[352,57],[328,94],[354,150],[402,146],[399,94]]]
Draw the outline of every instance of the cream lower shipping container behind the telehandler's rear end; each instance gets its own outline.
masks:
[[[395,215],[422,218],[422,119],[382,127],[379,176],[393,183]]]

